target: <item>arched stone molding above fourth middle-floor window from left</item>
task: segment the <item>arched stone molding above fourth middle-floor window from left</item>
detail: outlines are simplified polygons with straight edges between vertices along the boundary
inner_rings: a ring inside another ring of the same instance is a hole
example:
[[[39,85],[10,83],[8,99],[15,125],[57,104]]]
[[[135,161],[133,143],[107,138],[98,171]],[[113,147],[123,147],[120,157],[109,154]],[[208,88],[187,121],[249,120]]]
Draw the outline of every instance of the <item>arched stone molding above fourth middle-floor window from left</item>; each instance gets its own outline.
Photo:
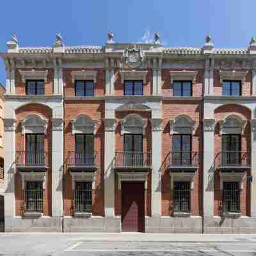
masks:
[[[195,121],[192,120],[190,116],[179,115],[179,116],[176,116],[173,120],[170,120],[169,123],[170,123],[170,134],[175,134],[175,133],[195,134]]]

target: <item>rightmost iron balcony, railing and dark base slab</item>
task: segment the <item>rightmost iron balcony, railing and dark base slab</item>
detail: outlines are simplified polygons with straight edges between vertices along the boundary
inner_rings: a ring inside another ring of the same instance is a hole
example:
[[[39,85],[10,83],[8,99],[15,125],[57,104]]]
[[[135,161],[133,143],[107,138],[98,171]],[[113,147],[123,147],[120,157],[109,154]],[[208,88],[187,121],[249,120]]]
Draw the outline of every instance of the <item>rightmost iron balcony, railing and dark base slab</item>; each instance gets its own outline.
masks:
[[[222,151],[217,154],[215,163],[222,172],[243,172],[251,168],[251,152]]]

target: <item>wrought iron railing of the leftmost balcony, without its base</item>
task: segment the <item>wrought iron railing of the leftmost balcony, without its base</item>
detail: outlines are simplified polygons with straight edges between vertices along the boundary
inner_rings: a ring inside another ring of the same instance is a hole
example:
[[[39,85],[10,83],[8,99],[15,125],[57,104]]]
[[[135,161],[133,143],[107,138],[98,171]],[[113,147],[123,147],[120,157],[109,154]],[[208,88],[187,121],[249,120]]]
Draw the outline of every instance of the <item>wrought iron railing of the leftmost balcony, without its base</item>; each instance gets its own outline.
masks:
[[[48,165],[48,157],[46,152],[19,151],[16,152],[16,156],[16,166],[20,168]]]

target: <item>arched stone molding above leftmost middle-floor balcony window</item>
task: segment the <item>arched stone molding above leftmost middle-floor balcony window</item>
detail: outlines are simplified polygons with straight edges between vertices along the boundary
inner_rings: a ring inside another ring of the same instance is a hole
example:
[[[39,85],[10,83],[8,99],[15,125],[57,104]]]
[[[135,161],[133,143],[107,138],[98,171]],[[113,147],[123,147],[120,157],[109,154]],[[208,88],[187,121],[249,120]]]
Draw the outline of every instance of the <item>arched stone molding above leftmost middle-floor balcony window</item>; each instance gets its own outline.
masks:
[[[26,133],[47,133],[48,120],[43,116],[33,113],[21,121],[22,135]]]

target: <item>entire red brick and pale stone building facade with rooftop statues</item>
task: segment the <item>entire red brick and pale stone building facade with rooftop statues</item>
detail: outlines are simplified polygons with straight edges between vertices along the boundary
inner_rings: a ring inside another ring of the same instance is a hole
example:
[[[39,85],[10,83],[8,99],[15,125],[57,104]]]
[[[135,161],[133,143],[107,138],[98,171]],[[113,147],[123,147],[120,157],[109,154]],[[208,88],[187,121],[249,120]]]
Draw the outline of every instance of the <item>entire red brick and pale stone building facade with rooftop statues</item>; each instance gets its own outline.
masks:
[[[256,38],[7,45],[6,231],[256,231]]]

